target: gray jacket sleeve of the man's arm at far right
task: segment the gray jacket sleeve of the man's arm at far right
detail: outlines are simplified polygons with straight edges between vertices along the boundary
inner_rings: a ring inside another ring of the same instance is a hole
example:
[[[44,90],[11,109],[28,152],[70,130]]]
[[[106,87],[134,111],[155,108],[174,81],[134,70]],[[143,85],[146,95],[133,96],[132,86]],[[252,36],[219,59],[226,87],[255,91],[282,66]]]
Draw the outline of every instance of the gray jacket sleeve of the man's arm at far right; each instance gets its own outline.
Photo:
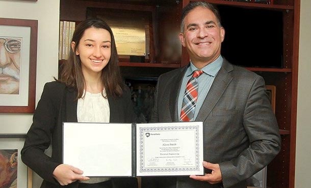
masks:
[[[277,121],[262,77],[256,77],[250,88],[243,113],[243,126],[250,146],[236,158],[219,163],[224,187],[251,177],[267,166],[280,150]]]

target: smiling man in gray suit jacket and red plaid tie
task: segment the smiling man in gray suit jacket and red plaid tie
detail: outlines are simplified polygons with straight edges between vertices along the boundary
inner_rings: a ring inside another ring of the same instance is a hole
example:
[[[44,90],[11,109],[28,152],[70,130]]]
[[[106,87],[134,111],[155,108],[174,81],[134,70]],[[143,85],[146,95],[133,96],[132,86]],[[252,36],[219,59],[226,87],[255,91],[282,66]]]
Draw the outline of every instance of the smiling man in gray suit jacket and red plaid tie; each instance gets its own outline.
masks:
[[[142,185],[246,187],[246,179],[280,150],[264,79],[220,55],[225,30],[211,4],[188,4],[181,30],[179,39],[187,48],[190,64],[159,77],[151,121],[203,121],[205,175],[143,178]]]

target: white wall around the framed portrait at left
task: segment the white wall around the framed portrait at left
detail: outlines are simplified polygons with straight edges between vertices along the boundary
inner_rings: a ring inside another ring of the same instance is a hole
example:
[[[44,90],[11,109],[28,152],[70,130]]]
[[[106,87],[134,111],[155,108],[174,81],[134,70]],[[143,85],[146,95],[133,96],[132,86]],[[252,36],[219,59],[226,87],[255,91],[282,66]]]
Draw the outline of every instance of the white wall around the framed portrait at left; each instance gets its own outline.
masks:
[[[58,74],[59,0],[0,0],[0,17],[38,20],[36,104],[45,82]],[[0,133],[27,133],[33,114],[0,113]]]

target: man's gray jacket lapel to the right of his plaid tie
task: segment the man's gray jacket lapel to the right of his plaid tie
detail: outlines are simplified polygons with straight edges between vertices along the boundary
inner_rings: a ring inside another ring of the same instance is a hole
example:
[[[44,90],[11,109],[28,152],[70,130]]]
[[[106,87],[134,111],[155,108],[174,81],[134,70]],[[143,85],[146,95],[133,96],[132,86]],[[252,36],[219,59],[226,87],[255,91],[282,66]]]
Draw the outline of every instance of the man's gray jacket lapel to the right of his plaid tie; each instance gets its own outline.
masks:
[[[211,86],[208,95],[206,96],[200,111],[196,117],[196,121],[204,121],[208,115],[211,113],[216,103],[221,98],[223,92],[229,85],[232,80],[230,72],[233,70],[233,67],[227,60],[223,60],[223,65],[219,70],[217,76],[214,79],[214,82]]]

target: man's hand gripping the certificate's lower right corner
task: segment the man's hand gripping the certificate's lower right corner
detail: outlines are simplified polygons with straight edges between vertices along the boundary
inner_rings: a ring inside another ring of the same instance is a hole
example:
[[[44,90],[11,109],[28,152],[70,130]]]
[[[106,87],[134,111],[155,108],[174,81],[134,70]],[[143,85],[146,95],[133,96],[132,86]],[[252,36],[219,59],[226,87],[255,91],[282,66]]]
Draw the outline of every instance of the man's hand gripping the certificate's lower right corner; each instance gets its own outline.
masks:
[[[191,175],[190,178],[199,181],[207,181],[211,184],[220,183],[222,181],[221,171],[218,164],[203,161],[203,167],[212,170],[212,173],[205,174],[204,176]]]

